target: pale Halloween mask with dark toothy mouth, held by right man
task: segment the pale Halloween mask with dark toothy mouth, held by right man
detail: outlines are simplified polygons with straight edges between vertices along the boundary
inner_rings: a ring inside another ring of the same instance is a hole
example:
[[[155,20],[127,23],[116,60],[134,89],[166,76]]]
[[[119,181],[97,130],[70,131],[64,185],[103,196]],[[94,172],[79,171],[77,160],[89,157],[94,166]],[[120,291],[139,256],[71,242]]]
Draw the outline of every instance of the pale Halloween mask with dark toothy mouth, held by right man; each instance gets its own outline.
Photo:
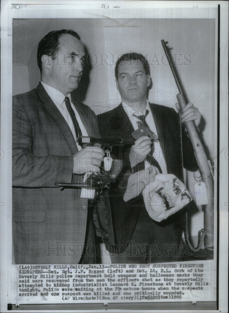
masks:
[[[157,222],[168,218],[192,200],[185,184],[172,174],[156,175],[155,181],[143,190],[143,197],[147,212]]]

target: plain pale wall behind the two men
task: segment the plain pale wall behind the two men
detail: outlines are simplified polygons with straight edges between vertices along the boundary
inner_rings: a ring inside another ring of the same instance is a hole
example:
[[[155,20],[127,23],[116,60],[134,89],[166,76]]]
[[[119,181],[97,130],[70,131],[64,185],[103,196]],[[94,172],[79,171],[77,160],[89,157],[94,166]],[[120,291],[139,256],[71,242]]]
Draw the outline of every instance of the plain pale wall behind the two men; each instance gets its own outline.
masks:
[[[13,95],[38,85],[38,42],[49,31],[63,28],[75,30],[90,55],[91,66],[75,95],[96,114],[120,103],[115,62],[130,51],[145,55],[150,64],[149,101],[175,108],[178,90],[161,45],[161,39],[168,41],[188,99],[205,120],[202,135],[214,159],[215,19],[13,19]],[[202,227],[203,213],[198,212],[191,234]]]

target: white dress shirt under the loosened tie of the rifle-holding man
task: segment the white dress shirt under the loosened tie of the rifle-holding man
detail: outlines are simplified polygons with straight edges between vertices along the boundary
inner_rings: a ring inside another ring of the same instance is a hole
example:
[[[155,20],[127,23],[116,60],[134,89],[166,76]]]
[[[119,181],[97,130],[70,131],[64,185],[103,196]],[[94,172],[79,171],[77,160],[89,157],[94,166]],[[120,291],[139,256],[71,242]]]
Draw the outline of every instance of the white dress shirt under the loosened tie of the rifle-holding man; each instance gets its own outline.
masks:
[[[145,111],[148,110],[149,113],[146,116],[145,121],[148,124],[150,130],[153,131],[156,136],[158,136],[148,99],[147,99],[146,108],[142,112],[139,111],[139,108],[137,106],[134,106],[134,105],[129,106],[124,101],[122,101],[122,106],[123,106],[123,109],[125,110],[126,114],[128,115],[130,122],[131,122],[135,131],[138,129],[137,122],[139,121],[139,119],[136,116],[145,115]],[[133,114],[136,116],[133,116]],[[161,150],[160,138],[159,138],[159,142],[154,141],[154,151],[155,151],[155,159],[159,163],[160,168],[162,170],[162,173],[167,174],[167,166],[166,166],[163,152]],[[148,161],[145,161],[145,167],[150,167],[150,163]]]

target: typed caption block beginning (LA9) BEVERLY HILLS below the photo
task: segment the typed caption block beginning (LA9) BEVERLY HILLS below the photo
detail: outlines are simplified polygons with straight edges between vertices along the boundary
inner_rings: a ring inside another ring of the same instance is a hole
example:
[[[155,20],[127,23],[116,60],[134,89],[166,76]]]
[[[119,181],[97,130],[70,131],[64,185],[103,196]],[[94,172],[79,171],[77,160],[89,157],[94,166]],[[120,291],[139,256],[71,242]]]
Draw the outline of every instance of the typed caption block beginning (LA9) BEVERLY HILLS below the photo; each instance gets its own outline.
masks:
[[[12,265],[11,303],[215,301],[213,265]]]

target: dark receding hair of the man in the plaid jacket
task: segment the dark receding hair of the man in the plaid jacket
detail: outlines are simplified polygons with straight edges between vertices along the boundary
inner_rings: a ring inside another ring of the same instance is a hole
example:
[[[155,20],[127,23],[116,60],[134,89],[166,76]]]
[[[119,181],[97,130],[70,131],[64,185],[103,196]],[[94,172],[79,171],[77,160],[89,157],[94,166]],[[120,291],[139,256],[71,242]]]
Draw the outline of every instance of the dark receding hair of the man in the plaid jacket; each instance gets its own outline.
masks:
[[[45,35],[38,44],[37,48],[37,64],[42,74],[42,62],[41,57],[43,54],[51,56],[54,60],[56,58],[56,52],[59,49],[59,38],[62,35],[69,34],[80,40],[78,33],[71,29],[53,30]]]

